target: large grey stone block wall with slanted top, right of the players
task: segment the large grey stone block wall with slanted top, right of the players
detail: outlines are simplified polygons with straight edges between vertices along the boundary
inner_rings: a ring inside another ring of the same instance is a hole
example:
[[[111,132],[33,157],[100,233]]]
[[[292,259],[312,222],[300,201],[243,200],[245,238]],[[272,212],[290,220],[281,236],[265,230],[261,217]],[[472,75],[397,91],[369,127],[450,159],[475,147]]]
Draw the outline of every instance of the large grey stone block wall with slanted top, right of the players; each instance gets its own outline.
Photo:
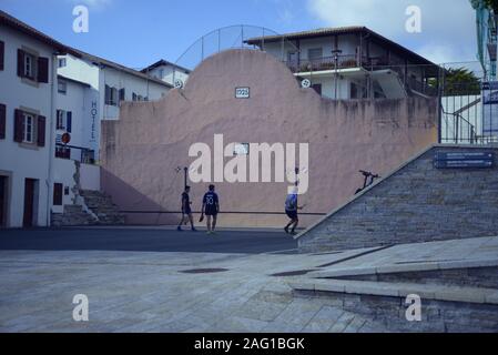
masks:
[[[312,226],[301,252],[360,248],[498,234],[498,161],[492,169],[434,166],[436,152],[498,148],[434,146]]]

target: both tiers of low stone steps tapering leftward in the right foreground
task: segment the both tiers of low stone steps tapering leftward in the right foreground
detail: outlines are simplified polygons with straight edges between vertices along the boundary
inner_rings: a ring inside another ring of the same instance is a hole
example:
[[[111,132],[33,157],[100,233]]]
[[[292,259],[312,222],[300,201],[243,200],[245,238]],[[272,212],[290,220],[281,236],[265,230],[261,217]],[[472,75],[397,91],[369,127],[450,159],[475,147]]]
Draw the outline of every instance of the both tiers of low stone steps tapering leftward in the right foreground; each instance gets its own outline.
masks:
[[[496,333],[498,236],[358,250],[288,285],[297,297],[326,298],[389,332]],[[419,322],[407,317],[414,295]]]

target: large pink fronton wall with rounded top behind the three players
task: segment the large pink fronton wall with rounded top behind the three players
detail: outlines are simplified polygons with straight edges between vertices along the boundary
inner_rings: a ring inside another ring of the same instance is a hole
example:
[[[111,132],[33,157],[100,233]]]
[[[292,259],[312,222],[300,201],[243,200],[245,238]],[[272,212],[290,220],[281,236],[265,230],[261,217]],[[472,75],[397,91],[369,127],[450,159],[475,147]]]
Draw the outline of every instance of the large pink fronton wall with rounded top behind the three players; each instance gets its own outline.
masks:
[[[236,99],[235,88],[251,88]],[[334,102],[297,80],[272,55],[230,50],[201,63],[183,90],[157,102],[126,102],[119,121],[102,123],[102,189],[130,224],[175,224],[183,172],[193,143],[309,143],[305,213],[327,213],[362,186],[359,170],[385,174],[437,142],[437,101],[350,100]],[[228,161],[230,159],[226,159]],[[209,183],[192,185],[193,210]],[[216,183],[221,226],[281,226],[288,183]],[[195,217],[197,219],[197,217]],[[303,215],[302,226],[319,216]]]

